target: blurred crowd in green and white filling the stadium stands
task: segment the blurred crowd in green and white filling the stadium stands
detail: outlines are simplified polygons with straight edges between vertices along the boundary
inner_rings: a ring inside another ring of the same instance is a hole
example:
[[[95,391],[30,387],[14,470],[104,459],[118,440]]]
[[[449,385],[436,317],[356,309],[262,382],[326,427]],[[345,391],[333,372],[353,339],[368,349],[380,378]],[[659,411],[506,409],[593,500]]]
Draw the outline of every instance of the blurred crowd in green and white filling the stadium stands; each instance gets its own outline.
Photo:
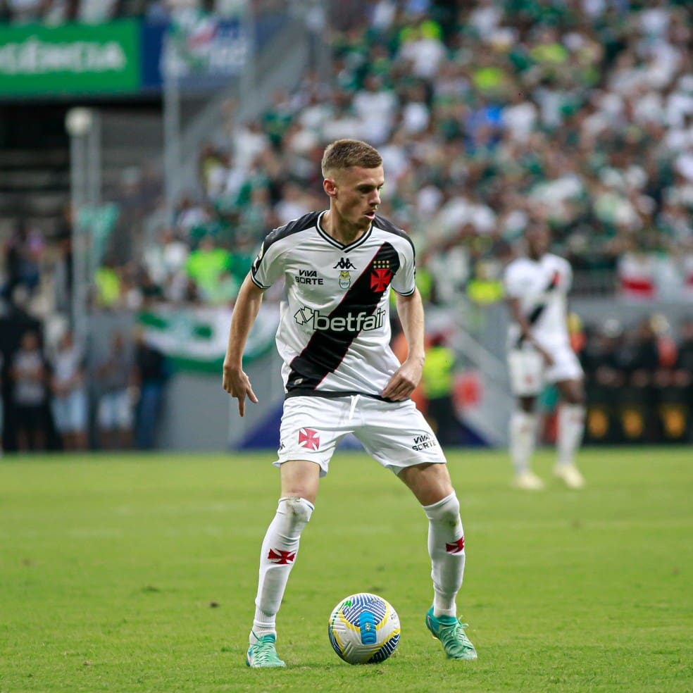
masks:
[[[579,291],[693,291],[683,2],[366,5],[330,35],[331,80],[307,75],[249,123],[225,105],[223,131],[199,154],[200,189],[167,234],[243,256],[268,229],[325,206],[323,147],[359,137],[382,153],[380,211],[415,240],[432,300],[497,278],[494,250],[530,218],[549,222]],[[203,300],[222,299],[195,283]],[[161,288],[179,300],[180,285],[172,275]]]

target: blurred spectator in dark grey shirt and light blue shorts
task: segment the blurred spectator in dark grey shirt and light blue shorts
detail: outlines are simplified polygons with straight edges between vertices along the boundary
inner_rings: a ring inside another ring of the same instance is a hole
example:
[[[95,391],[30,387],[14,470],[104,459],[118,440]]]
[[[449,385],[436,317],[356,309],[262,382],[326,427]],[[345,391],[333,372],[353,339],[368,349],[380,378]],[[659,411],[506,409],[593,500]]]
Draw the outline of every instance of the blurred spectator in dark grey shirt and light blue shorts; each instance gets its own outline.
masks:
[[[96,384],[101,449],[129,449],[132,447],[132,354],[120,332],[113,335],[111,350],[96,367]]]

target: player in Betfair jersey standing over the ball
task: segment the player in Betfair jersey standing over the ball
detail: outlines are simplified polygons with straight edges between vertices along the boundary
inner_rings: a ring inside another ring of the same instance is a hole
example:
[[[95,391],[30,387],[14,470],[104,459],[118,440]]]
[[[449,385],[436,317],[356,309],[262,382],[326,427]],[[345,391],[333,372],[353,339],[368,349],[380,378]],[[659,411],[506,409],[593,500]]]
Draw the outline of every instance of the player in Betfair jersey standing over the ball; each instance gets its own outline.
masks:
[[[266,237],[240,289],[224,361],[223,387],[237,397],[243,416],[246,397],[258,401],[242,369],[243,348],[263,292],[283,277],[277,349],[286,397],[274,463],[281,494],[262,544],[246,663],[285,666],[275,649],[277,611],[320,477],[349,432],[423,506],[434,594],[425,623],[449,658],[476,659],[455,604],[465,563],[459,502],[437,439],[409,399],[424,361],[413,246],[377,216],[385,183],[377,150],[358,140],[337,140],[325,149],[322,172],[330,207]],[[389,348],[391,286],[408,342],[401,364]]]

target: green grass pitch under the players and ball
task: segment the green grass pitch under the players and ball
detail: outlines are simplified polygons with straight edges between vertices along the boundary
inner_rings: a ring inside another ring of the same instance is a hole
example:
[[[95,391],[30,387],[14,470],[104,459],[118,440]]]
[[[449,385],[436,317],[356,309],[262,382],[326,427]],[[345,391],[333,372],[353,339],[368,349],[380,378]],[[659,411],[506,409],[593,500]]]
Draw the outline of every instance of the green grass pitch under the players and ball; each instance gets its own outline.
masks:
[[[500,452],[449,454],[467,540],[458,607],[479,652],[446,661],[423,623],[423,512],[338,454],[278,619],[286,670],[244,665],[278,473],[261,456],[0,462],[0,691],[693,690],[693,449],[589,449],[589,486],[508,486]],[[548,477],[544,451],[537,470]],[[401,618],[385,663],[351,667],[327,617],[376,592]]]

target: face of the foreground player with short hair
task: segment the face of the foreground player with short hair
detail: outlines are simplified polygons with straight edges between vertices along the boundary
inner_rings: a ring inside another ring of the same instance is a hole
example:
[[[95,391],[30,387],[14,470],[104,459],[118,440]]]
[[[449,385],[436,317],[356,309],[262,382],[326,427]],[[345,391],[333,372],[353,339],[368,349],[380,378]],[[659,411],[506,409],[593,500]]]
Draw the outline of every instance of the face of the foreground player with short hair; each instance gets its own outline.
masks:
[[[327,181],[326,181],[327,182]],[[340,170],[332,179],[332,208],[347,224],[367,229],[375,219],[380,204],[380,189],[385,185],[382,166],[351,166]]]

